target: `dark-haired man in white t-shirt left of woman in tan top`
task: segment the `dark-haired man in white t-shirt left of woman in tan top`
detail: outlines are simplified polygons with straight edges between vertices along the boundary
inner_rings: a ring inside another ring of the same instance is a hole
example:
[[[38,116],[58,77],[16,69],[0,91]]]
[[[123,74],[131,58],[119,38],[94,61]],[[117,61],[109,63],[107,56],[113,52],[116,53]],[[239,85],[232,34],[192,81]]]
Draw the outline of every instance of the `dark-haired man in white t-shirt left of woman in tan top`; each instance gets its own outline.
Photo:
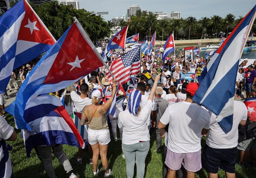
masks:
[[[81,80],[82,82],[82,80]],[[81,95],[78,95],[75,91],[75,86],[74,85],[70,85],[67,90],[70,91],[70,97],[74,103],[74,112],[76,114],[76,118],[75,118],[75,125],[76,128],[78,129],[79,133],[81,134],[83,140],[87,140],[87,127],[88,125],[81,125],[81,120],[79,119],[79,117],[81,118],[81,113],[83,111],[83,108],[87,105],[92,104],[92,99],[88,98],[88,91],[89,91],[89,86],[86,83],[82,83],[80,85],[80,92]],[[89,147],[89,152],[91,153],[91,157],[92,157],[92,151],[91,151],[91,146],[88,144]],[[82,148],[78,148],[78,162],[82,163],[82,154],[83,154],[83,149]],[[90,159],[90,163],[92,162],[92,160]]]

